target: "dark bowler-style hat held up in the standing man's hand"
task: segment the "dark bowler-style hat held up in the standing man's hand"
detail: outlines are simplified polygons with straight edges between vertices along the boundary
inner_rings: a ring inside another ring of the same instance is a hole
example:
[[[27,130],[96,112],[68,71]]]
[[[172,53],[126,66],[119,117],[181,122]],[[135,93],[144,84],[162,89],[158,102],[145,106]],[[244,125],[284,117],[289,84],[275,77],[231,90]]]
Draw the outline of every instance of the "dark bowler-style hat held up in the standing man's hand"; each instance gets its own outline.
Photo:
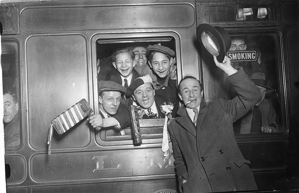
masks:
[[[231,46],[230,35],[227,31],[218,26],[201,24],[196,29],[196,35],[198,42],[212,55],[215,55],[218,62],[222,62]],[[214,42],[214,45],[211,44],[212,42]]]

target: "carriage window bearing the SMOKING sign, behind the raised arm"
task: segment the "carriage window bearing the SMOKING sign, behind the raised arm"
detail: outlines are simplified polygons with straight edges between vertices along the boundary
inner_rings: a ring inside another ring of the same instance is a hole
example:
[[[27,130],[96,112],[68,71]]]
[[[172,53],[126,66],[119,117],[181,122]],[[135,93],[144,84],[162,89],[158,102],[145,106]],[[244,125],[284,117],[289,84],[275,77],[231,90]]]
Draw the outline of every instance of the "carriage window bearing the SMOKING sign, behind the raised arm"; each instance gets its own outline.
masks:
[[[231,32],[231,47],[227,56],[233,67],[243,67],[246,74],[263,93],[263,100],[257,103],[245,116],[233,124],[236,136],[271,136],[286,132],[285,75],[281,63],[281,41],[279,33],[273,31],[234,33]],[[237,93],[227,81],[227,75],[219,73],[208,92],[218,98],[233,99]],[[271,133],[270,133],[271,132]]]

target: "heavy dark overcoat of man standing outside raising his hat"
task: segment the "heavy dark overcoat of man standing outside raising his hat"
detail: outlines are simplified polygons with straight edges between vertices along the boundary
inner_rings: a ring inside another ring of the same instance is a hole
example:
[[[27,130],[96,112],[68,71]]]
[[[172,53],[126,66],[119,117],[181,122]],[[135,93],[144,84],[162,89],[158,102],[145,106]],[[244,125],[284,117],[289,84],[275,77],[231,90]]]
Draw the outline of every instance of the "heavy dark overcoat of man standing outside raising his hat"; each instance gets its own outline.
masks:
[[[241,68],[228,77],[239,96],[233,100],[201,101],[197,127],[186,107],[169,124],[179,189],[184,192],[220,192],[257,189],[255,180],[236,143],[233,122],[245,115],[262,97]],[[182,185],[183,178],[187,180]]]

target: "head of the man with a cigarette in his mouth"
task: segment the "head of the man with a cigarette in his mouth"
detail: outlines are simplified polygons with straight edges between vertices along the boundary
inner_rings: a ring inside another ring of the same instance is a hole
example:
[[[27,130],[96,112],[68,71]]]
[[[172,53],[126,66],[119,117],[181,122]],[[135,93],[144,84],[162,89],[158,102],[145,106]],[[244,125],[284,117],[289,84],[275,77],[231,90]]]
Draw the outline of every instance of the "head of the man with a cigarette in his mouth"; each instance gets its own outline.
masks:
[[[202,100],[203,91],[198,80],[187,78],[180,84],[180,93],[178,96],[185,103],[191,101],[186,106],[190,109],[197,108]]]

